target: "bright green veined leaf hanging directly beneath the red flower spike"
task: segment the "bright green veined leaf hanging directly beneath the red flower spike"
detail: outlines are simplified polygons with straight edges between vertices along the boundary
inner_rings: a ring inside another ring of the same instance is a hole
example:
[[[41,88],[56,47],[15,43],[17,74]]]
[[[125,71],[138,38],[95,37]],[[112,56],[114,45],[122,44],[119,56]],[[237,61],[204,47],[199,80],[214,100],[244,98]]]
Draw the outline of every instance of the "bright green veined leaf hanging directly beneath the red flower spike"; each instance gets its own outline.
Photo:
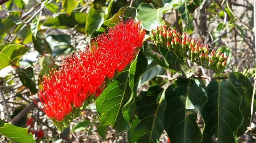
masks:
[[[96,100],[100,124],[111,125],[117,133],[129,128],[129,124],[122,113],[122,108],[128,102],[132,93],[128,85],[128,79],[129,71],[124,70]]]

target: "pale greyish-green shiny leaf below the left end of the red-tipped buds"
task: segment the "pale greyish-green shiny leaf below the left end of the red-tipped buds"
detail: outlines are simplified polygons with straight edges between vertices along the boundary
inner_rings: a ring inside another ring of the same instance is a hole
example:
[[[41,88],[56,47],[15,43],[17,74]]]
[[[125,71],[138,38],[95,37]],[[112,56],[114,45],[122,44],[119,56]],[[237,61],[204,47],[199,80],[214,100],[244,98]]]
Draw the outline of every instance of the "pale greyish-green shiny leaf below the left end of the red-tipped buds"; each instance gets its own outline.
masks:
[[[138,86],[141,86],[144,82],[148,82],[155,76],[161,75],[164,72],[164,69],[159,64],[157,64],[152,58],[148,57],[147,63],[147,69],[141,75]]]

